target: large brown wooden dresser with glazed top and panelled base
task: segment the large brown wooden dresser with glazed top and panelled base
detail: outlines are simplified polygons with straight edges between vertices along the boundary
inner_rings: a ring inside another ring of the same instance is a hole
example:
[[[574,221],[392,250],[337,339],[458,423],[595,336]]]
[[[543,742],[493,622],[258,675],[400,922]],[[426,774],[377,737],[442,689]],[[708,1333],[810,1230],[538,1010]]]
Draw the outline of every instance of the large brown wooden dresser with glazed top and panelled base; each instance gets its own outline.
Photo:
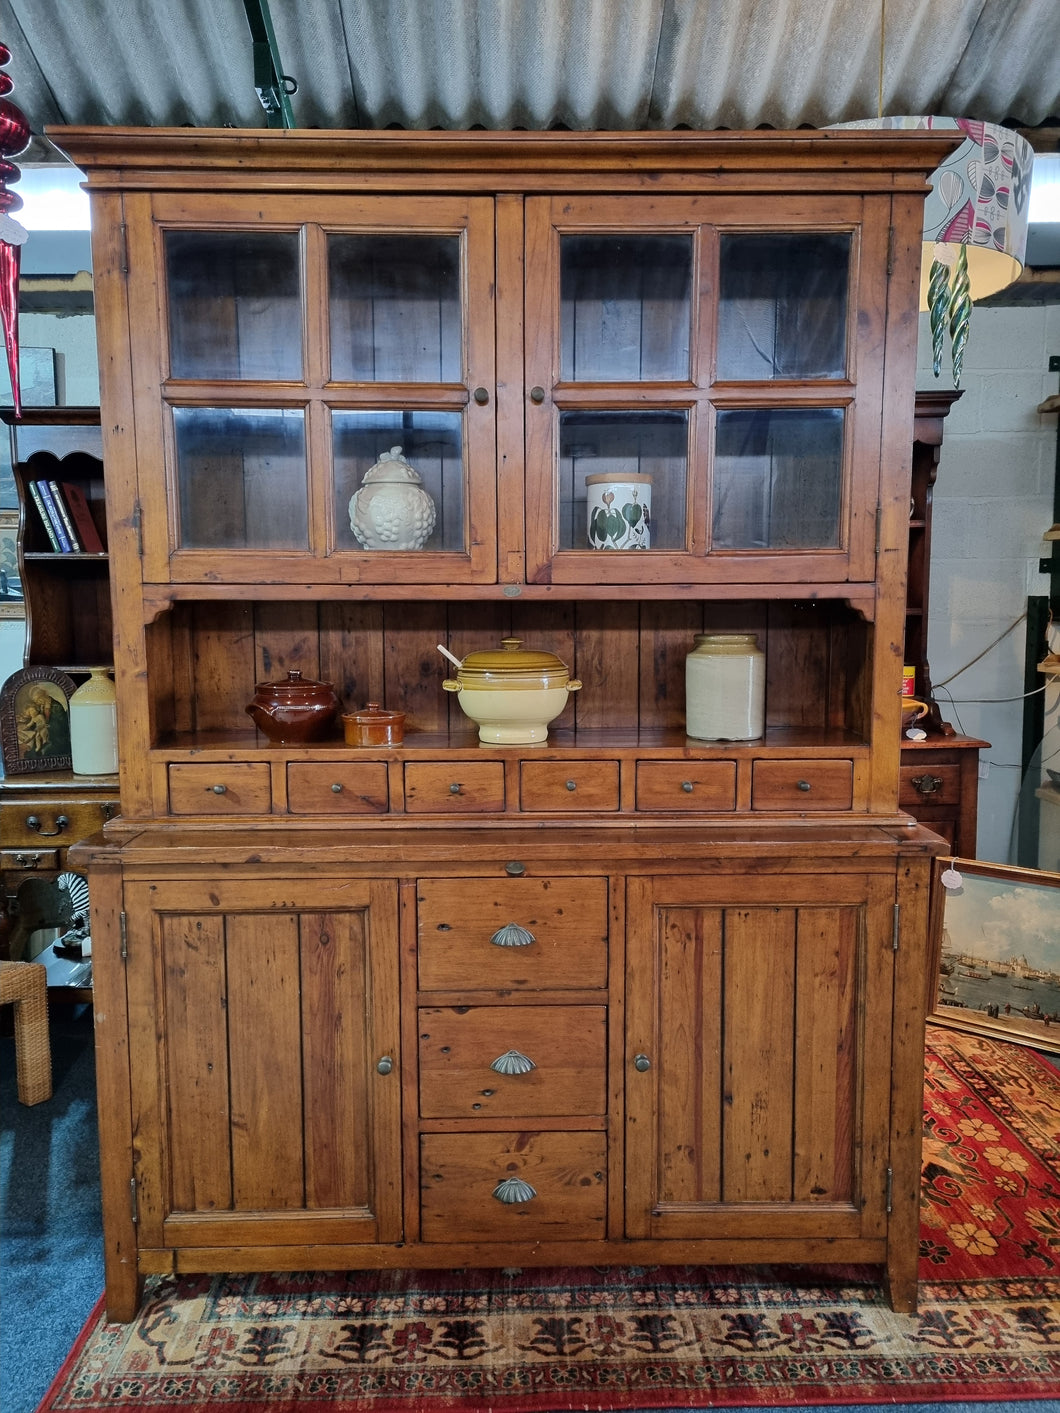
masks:
[[[123,815],[78,851],[112,1318],[150,1272],[671,1260],[869,1262],[912,1310],[941,844],[899,695],[951,140],[51,137],[116,584]],[[435,523],[367,548],[394,448]],[[650,476],[649,548],[589,547],[599,473]],[[758,636],[760,738],[685,735],[702,632]],[[438,643],[505,637],[584,684],[543,745],[442,691]],[[270,745],[245,708],[291,670],[404,740]]]

